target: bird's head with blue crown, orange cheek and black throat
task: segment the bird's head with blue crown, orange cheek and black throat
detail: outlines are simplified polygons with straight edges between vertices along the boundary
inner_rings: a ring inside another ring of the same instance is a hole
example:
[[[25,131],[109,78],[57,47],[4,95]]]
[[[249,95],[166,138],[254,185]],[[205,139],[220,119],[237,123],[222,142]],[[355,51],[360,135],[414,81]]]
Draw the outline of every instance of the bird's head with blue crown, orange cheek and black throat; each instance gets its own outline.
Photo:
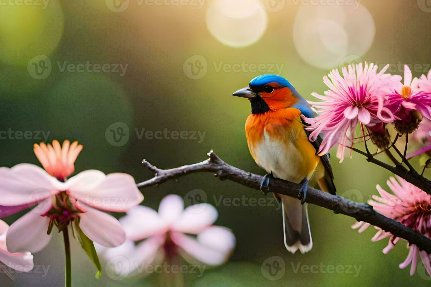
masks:
[[[313,112],[306,100],[288,80],[278,75],[255,77],[250,81],[249,86],[236,91],[232,96],[249,99],[252,114],[293,107],[298,108],[306,117],[313,117]]]

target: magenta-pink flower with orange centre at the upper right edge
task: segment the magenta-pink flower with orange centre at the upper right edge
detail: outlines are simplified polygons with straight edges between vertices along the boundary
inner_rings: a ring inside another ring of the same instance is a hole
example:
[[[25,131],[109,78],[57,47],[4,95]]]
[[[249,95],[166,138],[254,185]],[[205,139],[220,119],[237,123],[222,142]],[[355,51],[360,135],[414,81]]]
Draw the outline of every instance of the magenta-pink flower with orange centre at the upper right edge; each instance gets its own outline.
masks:
[[[407,65],[404,66],[404,84],[397,83],[387,99],[387,108],[398,118],[394,122],[395,129],[401,134],[416,130],[422,116],[431,118],[431,93],[419,89],[419,79],[412,80],[412,71]]]

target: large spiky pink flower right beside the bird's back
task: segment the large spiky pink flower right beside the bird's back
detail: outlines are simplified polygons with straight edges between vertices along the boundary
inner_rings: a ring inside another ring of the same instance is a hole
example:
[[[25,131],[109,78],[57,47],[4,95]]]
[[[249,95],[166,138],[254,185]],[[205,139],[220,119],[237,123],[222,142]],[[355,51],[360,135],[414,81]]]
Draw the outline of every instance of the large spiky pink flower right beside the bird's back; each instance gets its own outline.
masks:
[[[312,93],[323,102],[309,102],[315,108],[318,116],[307,118],[312,131],[310,140],[315,141],[319,133],[323,133],[323,142],[319,154],[327,153],[338,143],[337,157],[344,159],[346,147],[352,147],[355,141],[355,131],[358,122],[363,126],[373,127],[378,123],[391,123],[394,116],[384,106],[384,95],[390,93],[391,87],[400,76],[384,74],[389,65],[377,73],[377,65],[362,63],[342,68],[341,76],[338,70],[333,70],[323,81],[329,90],[325,96]],[[379,108],[380,107],[380,108]],[[362,136],[364,139],[365,134]]]

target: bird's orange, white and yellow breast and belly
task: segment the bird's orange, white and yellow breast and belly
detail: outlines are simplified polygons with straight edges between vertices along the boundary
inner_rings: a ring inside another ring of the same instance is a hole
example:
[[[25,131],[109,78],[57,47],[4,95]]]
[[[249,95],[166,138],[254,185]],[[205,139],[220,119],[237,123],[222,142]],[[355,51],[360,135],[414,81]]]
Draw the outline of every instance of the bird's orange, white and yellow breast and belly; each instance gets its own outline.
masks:
[[[250,114],[247,144],[256,163],[275,177],[299,183],[311,178],[319,163],[297,108]]]

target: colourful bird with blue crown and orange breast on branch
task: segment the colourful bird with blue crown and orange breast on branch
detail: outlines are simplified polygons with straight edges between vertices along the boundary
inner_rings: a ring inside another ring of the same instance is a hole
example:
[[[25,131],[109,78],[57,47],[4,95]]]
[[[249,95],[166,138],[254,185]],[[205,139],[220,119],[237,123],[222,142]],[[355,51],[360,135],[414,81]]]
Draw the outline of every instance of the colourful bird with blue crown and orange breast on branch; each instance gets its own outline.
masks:
[[[329,154],[319,154],[322,138],[309,141],[303,117],[314,117],[306,100],[283,77],[262,75],[232,96],[247,98],[251,104],[245,131],[253,159],[268,173],[261,190],[269,191],[269,179],[301,183],[298,199],[274,193],[283,207],[284,245],[291,253],[312,248],[307,206],[308,183],[314,176],[322,190],[336,194]]]

